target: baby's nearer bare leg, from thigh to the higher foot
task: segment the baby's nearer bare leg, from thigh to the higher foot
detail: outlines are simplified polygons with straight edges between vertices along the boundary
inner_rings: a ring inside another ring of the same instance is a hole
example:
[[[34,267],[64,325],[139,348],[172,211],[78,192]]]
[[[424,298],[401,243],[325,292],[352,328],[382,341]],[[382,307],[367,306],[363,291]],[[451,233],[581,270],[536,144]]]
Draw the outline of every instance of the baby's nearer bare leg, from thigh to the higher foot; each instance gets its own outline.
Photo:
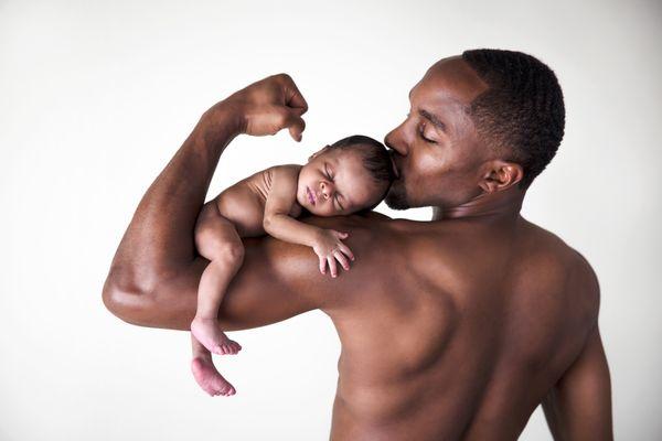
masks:
[[[234,225],[218,212],[215,201],[206,203],[200,213],[195,247],[211,261],[200,279],[197,311],[191,332],[214,354],[236,354],[242,346],[221,331],[217,316],[227,286],[244,261],[244,246]]]

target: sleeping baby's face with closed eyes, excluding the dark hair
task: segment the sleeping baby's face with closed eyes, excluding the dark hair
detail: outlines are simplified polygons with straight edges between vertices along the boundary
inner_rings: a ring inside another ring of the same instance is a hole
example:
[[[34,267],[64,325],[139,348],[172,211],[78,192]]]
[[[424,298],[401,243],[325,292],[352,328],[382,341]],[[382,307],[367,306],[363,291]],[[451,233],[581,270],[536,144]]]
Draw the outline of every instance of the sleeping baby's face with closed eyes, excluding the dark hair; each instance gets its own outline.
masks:
[[[325,148],[301,168],[297,202],[317,216],[340,216],[373,205],[385,190],[363,168],[360,152]]]

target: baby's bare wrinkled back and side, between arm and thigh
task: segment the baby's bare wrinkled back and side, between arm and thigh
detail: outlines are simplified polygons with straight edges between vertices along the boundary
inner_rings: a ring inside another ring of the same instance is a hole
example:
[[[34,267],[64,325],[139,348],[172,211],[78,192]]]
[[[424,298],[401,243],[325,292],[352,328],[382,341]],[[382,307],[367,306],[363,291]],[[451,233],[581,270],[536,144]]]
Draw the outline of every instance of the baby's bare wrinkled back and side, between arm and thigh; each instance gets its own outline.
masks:
[[[301,165],[270,166],[243,179],[214,197],[213,202],[218,207],[218,212],[234,224],[241,237],[265,235],[263,226],[265,205],[271,193],[273,175],[276,169],[287,171],[288,173],[284,173],[284,175],[296,181]],[[300,214],[301,207],[295,204],[289,215],[298,217]]]

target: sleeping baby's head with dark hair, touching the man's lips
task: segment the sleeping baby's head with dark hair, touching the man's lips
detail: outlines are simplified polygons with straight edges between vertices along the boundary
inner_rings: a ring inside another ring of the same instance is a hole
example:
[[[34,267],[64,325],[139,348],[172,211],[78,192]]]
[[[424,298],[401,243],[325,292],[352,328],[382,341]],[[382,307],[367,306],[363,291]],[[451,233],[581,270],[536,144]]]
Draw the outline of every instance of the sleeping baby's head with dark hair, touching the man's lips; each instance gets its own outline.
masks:
[[[394,178],[386,148],[354,135],[308,159],[299,172],[297,202],[318,216],[372,209],[384,198]]]

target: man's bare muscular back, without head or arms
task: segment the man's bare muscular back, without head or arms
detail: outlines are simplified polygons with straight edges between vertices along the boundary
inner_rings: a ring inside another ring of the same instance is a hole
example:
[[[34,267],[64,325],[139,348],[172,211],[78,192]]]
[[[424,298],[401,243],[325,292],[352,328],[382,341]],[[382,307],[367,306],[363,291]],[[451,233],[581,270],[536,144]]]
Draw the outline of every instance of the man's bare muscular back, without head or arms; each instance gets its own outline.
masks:
[[[331,438],[516,438],[596,324],[588,263],[521,217],[367,235],[374,277],[325,309],[342,342]]]

